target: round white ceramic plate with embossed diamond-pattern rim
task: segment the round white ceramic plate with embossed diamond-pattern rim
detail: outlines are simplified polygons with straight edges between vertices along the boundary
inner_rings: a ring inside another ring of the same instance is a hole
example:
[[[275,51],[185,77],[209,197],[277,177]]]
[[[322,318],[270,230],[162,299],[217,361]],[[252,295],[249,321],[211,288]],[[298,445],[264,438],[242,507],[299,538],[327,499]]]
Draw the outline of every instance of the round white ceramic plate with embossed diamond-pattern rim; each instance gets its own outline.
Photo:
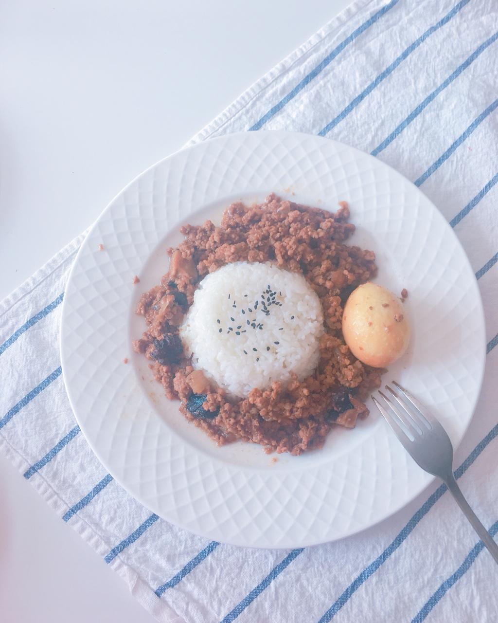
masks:
[[[458,445],[476,405],[485,353],[481,297],[467,257],[413,184],[380,160],[325,138],[281,131],[223,136],[134,179],[77,255],[61,351],[78,424],[134,497],[209,539],[288,548],[367,528],[410,502],[431,477],[375,409],[354,430],[332,430],[322,450],[278,455],[276,463],[258,445],[218,448],[162,396],[146,359],[131,348],[144,330],[134,315],[138,298],[167,271],[166,249],[181,240],[181,224],[216,221],[230,202],[262,200],[271,191],[330,210],[349,202],[353,241],[377,254],[377,282],[409,292],[411,346],[385,380],[410,388]]]

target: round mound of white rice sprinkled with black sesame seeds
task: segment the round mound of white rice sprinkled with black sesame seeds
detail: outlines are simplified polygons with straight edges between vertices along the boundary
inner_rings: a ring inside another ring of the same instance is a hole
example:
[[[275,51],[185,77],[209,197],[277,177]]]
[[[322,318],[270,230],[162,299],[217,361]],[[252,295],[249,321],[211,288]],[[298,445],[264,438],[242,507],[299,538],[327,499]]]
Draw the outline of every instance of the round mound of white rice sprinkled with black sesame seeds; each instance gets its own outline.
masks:
[[[194,368],[240,397],[286,383],[291,373],[299,380],[309,376],[322,333],[322,306],[306,279],[256,262],[233,262],[207,275],[180,329]]]

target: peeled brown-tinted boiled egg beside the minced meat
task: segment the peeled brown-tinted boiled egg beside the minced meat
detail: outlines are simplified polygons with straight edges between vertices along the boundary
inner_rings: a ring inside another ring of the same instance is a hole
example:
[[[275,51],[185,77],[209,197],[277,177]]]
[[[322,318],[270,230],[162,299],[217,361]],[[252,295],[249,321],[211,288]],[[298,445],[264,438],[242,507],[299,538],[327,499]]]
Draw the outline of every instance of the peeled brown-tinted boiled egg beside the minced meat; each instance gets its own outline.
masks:
[[[346,301],[342,334],[354,356],[373,368],[399,359],[410,341],[403,303],[376,283],[364,283]]]

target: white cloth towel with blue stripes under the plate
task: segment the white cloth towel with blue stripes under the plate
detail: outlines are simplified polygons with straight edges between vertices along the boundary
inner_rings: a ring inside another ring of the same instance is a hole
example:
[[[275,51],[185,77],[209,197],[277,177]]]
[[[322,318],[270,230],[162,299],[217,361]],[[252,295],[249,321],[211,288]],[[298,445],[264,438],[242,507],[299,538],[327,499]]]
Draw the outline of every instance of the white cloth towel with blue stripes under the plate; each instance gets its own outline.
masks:
[[[479,280],[487,369],[456,476],[498,530],[498,3],[360,0],[189,144],[299,130],[368,151],[426,193]],[[291,551],[208,542],[105,472],[63,388],[60,302],[83,235],[0,303],[0,445],[158,621],[496,621],[498,569],[437,483],[370,530]]]

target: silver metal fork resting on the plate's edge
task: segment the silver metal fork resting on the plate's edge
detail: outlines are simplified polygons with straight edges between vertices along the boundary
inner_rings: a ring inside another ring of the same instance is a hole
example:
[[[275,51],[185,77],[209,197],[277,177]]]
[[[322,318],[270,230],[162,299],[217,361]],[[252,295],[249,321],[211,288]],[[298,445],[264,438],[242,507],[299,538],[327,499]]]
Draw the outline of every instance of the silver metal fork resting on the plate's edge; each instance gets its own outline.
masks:
[[[472,528],[477,532],[482,543],[486,545],[495,562],[498,563],[498,545],[463,497],[463,493],[454,478],[453,446],[448,433],[410,392],[402,388],[396,381],[393,381],[393,384],[403,398],[386,385],[385,388],[391,397],[387,397],[382,391],[379,391],[379,394],[383,397],[387,408],[382,406],[374,396],[372,396],[373,402],[400,442],[408,450],[412,459],[423,470],[443,480],[456,503],[470,521]]]

